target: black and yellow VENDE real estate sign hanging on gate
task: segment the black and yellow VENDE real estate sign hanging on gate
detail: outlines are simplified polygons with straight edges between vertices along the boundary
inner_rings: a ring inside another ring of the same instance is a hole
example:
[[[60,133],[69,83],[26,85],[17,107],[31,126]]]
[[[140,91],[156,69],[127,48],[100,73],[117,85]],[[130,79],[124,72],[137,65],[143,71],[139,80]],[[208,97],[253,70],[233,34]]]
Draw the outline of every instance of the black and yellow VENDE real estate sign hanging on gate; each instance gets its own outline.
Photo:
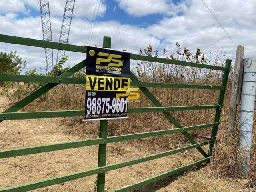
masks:
[[[126,118],[130,53],[87,47],[85,120]]]

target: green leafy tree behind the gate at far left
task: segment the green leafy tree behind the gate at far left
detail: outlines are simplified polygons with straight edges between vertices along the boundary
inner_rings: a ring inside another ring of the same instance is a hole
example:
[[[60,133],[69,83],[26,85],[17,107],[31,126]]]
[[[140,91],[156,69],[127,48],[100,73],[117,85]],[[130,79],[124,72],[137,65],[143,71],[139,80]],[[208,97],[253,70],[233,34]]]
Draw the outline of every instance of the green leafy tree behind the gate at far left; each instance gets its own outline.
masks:
[[[18,75],[25,66],[26,60],[23,62],[17,51],[0,52],[0,73]]]

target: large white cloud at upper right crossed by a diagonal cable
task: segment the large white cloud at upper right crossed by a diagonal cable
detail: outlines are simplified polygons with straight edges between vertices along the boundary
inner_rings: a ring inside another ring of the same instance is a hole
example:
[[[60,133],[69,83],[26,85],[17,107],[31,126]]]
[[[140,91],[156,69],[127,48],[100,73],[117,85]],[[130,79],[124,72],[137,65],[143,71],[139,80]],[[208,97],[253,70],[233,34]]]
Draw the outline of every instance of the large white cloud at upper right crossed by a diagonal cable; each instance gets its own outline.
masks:
[[[251,51],[255,41],[254,27],[256,22],[256,2],[254,0],[205,0],[225,30],[239,45],[246,46],[246,52]],[[202,1],[192,0],[187,10],[180,16],[165,17],[157,24],[148,27],[150,32],[163,38],[162,46],[167,48],[174,42],[195,50],[210,52],[216,47],[224,47],[228,55],[235,53],[236,47],[219,26]]]

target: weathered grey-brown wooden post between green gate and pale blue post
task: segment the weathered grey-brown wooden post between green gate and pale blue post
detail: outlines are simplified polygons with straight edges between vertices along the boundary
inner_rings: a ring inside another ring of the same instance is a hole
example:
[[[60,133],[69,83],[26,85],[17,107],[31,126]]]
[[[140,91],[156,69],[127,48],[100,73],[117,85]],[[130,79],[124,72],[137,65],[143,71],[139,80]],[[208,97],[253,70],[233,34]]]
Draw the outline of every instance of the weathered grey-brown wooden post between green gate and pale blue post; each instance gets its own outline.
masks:
[[[229,118],[228,118],[228,128],[227,128],[227,138],[234,133],[236,130],[236,110],[237,110],[237,100],[240,100],[240,90],[239,90],[239,79],[240,70],[244,65],[244,46],[239,45],[236,49],[236,61],[234,64],[234,74],[232,76],[232,86],[231,86],[231,95],[230,95],[230,106],[229,106]],[[239,97],[239,99],[238,99]]]

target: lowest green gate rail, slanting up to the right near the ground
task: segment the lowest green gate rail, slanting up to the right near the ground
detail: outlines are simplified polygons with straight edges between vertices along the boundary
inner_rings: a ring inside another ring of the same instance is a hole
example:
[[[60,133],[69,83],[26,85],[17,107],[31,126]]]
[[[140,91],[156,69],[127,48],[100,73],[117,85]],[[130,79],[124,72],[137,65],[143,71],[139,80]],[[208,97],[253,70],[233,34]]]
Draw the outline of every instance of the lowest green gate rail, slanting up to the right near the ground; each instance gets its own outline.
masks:
[[[180,166],[178,168],[174,168],[172,170],[163,172],[161,174],[152,176],[150,178],[146,178],[146,179],[138,181],[136,183],[133,183],[133,184],[130,184],[130,185],[118,188],[116,190],[113,190],[112,192],[126,192],[126,191],[131,191],[131,190],[140,188],[140,187],[148,185],[148,184],[150,184],[152,182],[156,182],[158,180],[161,180],[161,179],[164,179],[166,177],[172,176],[172,175],[174,175],[174,174],[176,174],[178,172],[182,172],[182,171],[185,171],[185,170],[192,169],[194,166],[197,166],[197,165],[200,165],[202,163],[208,162],[210,160],[210,158],[211,158],[211,156],[210,157],[206,157],[204,159],[200,159],[198,161],[195,161],[195,162],[192,162],[192,163],[189,163],[189,164],[186,164],[186,165],[183,165],[183,166]]]

